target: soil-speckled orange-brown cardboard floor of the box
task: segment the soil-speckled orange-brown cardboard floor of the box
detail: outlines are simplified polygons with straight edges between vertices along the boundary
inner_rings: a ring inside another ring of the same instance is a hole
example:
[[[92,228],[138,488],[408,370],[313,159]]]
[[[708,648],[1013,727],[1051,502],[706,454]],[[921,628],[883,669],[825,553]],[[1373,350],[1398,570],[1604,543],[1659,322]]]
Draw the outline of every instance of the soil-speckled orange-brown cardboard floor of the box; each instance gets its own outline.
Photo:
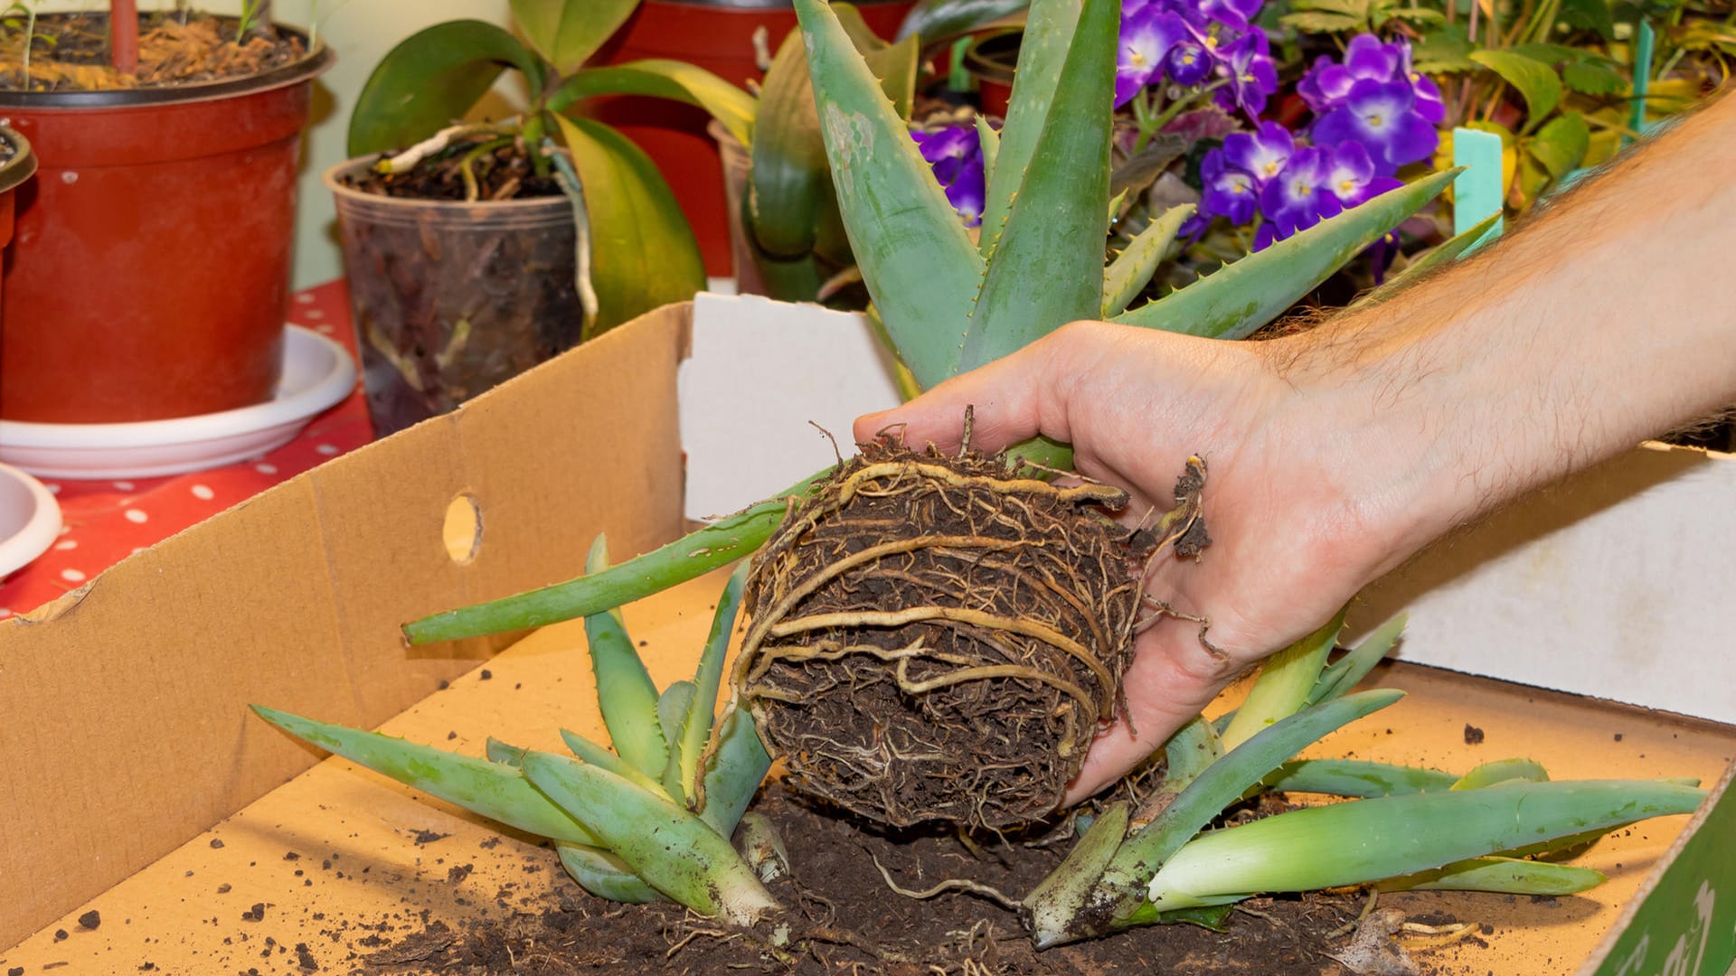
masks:
[[[713,573],[625,610],[634,637],[646,643],[642,653],[660,686],[689,676],[720,587],[722,575]],[[488,735],[561,748],[556,735],[561,726],[590,736],[602,733],[578,625],[540,630],[484,667],[486,679],[483,669],[472,670],[385,722],[384,731],[470,754],[481,752]],[[1335,733],[1316,754],[1455,771],[1531,755],[1559,778],[1693,775],[1706,781],[1736,755],[1736,729],[1726,726],[1415,665],[1382,667],[1371,683],[1410,695]],[[330,717],[318,710],[314,716]],[[255,719],[245,721],[253,726],[250,735],[278,735]],[[1481,743],[1465,742],[1467,724],[1483,731]],[[1578,863],[1608,870],[1611,882],[1588,896],[1384,900],[1422,920],[1493,929],[1476,941],[1418,952],[1441,971],[1571,973],[1686,821],[1686,816],[1649,821],[1594,846]],[[306,946],[307,959],[321,971],[342,973],[358,957],[385,950],[431,922],[458,926],[503,917],[571,891],[549,849],[496,837],[467,814],[332,759],[69,910],[23,945],[0,952],[0,966],[36,973],[66,962],[69,971],[83,973],[130,971],[151,962],[168,973],[233,973],[248,966],[260,973],[297,973],[299,946]],[[222,846],[214,847],[214,841]],[[290,854],[295,858],[288,860]],[[255,913],[255,905],[262,912]],[[99,912],[99,929],[78,927],[76,919],[87,910]],[[1241,917],[1238,924],[1262,922]],[[56,929],[68,938],[57,940]]]

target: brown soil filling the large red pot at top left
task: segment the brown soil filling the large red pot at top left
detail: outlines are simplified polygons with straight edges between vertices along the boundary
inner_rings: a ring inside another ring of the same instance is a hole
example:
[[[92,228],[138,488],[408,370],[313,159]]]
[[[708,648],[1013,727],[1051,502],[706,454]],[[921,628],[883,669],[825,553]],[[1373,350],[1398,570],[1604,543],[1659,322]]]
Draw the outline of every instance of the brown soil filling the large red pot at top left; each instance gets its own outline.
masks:
[[[0,21],[0,89],[33,92],[160,89],[245,78],[300,61],[300,38],[266,26],[238,38],[236,17],[153,10],[139,14],[139,69],[109,64],[108,14],[23,14]],[[30,83],[24,83],[24,38]]]

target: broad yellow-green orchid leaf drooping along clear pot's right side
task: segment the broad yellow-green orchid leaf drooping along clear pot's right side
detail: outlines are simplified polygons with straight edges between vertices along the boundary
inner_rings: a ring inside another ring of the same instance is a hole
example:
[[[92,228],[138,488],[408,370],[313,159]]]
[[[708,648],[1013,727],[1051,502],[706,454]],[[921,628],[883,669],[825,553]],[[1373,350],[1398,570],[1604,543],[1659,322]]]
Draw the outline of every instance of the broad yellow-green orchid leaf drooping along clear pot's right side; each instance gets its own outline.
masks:
[[[693,299],[705,288],[705,262],[651,156],[601,122],[554,118],[590,210],[597,321],[585,339],[654,307]]]

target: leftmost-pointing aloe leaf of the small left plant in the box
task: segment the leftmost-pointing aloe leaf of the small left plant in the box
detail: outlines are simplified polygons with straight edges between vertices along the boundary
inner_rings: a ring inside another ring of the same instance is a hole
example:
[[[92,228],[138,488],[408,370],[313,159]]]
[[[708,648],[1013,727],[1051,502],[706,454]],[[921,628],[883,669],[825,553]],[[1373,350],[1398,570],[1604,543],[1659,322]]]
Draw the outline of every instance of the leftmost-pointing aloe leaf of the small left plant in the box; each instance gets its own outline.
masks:
[[[470,813],[479,813],[507,827],[549,837],[550,841],[587,844],[592,847],[599,844],[597,834],[592,834],[585,825],[550,802],[519,769],[509,764],[443,752],[380,733],[319,722],[290,712],[266,709],[264,705],[250,705],[250,709],[260,719],[300,740],[366,766],[382,776],[391,776],[399,783],[415,787],[424,794],[462,806]]]

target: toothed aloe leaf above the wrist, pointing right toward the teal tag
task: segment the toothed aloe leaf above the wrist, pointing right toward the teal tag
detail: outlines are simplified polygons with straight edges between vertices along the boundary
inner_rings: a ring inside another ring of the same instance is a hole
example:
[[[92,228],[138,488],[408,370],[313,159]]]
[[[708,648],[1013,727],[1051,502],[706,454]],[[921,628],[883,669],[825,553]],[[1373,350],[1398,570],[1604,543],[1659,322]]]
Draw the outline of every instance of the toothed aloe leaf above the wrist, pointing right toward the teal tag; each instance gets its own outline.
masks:
[[[1444,170],[1382,193],[1113,321],[1184,335],[1246,339],[1434,200],[1455,175],[1458,170]]]

